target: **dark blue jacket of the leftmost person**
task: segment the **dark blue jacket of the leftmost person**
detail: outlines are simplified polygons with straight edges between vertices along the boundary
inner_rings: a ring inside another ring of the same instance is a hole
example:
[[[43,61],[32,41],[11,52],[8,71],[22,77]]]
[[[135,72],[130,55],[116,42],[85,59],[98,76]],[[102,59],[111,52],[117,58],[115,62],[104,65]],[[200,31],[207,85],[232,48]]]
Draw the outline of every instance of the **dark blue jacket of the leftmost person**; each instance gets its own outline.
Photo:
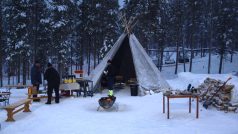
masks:
[[[41,70],[37,66],[31,68],[31,84],[38,85],[42,83]]]

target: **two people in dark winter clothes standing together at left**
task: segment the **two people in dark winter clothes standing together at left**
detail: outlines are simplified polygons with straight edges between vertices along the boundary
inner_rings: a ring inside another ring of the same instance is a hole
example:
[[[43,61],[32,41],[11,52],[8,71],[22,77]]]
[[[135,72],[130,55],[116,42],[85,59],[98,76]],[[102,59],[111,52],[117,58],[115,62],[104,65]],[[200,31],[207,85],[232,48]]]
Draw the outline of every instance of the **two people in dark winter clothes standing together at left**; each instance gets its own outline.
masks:
[[[41,64],[39,61],[35,61],[31,68],[31,84],[36,87],[37,92],[39,91],[40,84],[42,84],[41,77]],[[44,80],[47,81],[47,102],[46,104],[51,104],[51,98],[53,90],[55,92],[55,103],[59,103],[59,85],[60,85],[60,75],[57,70],[52,66],[51,63],[47,64],[47,69],[44,72]],[[33,98],[37,97],[37,94],[33,95]],[[40,101],[40,99],[33,99],[33,101]]]

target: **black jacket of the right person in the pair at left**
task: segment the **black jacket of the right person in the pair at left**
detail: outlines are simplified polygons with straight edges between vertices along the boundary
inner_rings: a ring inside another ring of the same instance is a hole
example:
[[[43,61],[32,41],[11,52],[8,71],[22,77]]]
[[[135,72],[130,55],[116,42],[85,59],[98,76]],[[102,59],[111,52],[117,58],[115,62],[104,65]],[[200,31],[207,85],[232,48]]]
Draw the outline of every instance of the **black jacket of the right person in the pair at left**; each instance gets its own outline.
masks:
[[[59,86],[60,76],[59,73],[53,67],[48,67],[44,74],[44,79],[47,80],[48,86]]]

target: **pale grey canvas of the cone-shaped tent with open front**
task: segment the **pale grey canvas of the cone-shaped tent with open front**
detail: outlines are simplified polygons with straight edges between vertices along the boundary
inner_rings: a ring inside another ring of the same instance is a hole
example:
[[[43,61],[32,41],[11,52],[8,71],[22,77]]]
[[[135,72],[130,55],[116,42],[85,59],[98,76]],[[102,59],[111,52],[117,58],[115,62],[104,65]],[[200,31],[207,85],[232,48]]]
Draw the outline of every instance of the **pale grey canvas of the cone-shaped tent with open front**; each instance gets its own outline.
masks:
[[[94,87],[100,84],[109,59],[112,60],[116,75],[122,75],[125,81],[130,78],[137,80],[141,95],[145,90],[170,88],[134,34],[123,33],[100,64],[90,73],[89,78],[93,81]]]

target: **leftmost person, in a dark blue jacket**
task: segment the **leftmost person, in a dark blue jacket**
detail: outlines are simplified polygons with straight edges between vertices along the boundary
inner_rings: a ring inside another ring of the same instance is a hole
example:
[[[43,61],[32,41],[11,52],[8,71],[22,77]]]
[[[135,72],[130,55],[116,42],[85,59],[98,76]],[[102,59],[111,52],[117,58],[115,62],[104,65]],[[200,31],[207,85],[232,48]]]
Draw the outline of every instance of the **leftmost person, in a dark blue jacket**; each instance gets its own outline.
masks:
[[[41,66],[39,61],[35,61],[31,68],[31,84],[36,87],[37,92],[39,91],[40,84],[42,83],[41,78]],[[33,95],[33,98],[37,95]],[[40,101],[39,99],[34,99],[33,101]]]

